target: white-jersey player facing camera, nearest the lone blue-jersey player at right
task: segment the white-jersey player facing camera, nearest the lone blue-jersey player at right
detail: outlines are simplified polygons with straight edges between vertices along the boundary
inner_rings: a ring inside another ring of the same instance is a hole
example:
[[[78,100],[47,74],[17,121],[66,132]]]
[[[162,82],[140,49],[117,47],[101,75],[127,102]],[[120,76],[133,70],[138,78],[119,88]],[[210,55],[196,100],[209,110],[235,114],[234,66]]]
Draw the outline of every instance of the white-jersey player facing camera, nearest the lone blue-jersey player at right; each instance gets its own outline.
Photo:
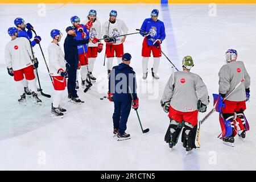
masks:
[[[128,30],[125,22],[121,19],[117,19],[117,11],[111,10],[109,20],[105,22],[102,27],[102,35],[104,35],[104,39],[106,39],[105,56],[107,57],[108,77],[113,67],[114,56],[117,57],[118,64],[122,63],[123,42],[125,42],[126,36],[119,35],[127,34]],[[115,38],[116,36],[119,37]]]

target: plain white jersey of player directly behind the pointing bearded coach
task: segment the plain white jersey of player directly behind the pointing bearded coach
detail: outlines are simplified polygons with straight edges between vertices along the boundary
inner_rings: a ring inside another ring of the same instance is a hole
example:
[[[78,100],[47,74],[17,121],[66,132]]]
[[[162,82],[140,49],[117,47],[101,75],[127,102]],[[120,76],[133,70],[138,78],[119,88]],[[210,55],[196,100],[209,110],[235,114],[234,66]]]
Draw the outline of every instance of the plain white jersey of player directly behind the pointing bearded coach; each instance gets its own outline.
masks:
[[[59,45],[59,44],[58,44]],[[64,53],[60,46],[55,43],[51,43],[48,46],[49,55],[49,72],[51,76],[59,76],[57,73],[59,69],[66,69],[66,61],[64,59]]]

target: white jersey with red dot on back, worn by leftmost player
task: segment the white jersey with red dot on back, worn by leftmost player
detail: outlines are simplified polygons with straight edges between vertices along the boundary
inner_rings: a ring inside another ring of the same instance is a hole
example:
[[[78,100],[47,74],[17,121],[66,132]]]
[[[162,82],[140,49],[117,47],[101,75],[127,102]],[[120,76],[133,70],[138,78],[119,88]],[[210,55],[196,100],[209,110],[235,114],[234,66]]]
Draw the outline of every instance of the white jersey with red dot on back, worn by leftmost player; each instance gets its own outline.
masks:
[[[16,38],[5,46],[5,63],[14,71],[29,67],[32,64],[32,51],[27,38]]]

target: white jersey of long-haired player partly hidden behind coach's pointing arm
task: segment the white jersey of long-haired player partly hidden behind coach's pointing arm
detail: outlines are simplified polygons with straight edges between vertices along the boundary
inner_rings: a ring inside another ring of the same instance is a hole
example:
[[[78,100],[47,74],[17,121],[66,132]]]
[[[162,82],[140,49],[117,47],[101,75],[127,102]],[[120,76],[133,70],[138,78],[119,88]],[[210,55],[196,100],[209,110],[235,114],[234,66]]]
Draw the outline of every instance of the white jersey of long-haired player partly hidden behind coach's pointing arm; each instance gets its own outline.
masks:
[[[82,24],[86,24],[89,22],[89,19],[87,19],[85,22],[83,22]],[[90,30],[88,31],[90,38],[97,38],[100,39],[101,38],[101,23],[96,19],[95,22],[93,22],[93,26],[90,27]],[[93,44],[92,42],[88,43],[88,47],[98,47],[98,43]]]

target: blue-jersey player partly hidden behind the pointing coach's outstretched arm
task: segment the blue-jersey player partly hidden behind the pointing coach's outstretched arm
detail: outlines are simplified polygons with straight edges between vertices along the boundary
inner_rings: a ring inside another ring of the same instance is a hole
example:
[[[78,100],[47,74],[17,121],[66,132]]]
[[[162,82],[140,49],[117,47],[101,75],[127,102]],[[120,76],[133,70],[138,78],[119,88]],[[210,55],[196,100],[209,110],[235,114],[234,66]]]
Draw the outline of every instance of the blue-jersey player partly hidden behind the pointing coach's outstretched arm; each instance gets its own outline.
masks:
[[[71,23],[73,27],[75,27],[76,31],[76,40],[83,40],[83,39],[89,39],[89,33],[87,29],[92,27],[92,22],[88,22],[87,24],[80,24],[80,18],[78,16],[72,16],[71,17]],[[85,80],[87,78],[87,68],[86,65],[88,65],[88,49],[86,44],[78,45],[77,46],[78,51],[79,51],[79,65],[78,69],[81,68],[81,80],[82,80],[82,86],[85,86]],[[86,80],[87,83],[89,84],[89,81]],[[76,78],[76,89],[79,89],[79,81],[78,81],[78,72],[77,72],[77,78]]]

